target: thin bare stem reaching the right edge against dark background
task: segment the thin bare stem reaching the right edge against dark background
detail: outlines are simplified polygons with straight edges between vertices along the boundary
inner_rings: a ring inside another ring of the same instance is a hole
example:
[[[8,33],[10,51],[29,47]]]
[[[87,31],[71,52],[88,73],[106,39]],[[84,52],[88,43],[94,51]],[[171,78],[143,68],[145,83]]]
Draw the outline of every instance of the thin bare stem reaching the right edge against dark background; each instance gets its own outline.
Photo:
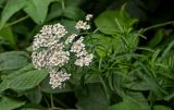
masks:
[[[169,25],[169,24],[174,24],[174,21],[170,21],[170,22],[165,22],[165,23],[160,23],[160,24],[156,24],[156,25],[146,27],[146,28],[142,29],[142,33],[145,33],[145,32],[147,32],[147,30],[149,30],[149,29],[162,27],[162,26],[165,26],[165,25]]]

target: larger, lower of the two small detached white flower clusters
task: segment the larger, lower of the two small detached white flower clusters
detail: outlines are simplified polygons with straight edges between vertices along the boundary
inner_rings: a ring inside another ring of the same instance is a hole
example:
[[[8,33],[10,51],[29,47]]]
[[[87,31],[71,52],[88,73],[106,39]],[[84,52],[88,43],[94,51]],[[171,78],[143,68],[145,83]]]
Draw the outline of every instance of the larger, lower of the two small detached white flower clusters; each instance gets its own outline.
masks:
[[[75,25],[77,29],[89,29],[90,25],[87,22],[78,21]]]

